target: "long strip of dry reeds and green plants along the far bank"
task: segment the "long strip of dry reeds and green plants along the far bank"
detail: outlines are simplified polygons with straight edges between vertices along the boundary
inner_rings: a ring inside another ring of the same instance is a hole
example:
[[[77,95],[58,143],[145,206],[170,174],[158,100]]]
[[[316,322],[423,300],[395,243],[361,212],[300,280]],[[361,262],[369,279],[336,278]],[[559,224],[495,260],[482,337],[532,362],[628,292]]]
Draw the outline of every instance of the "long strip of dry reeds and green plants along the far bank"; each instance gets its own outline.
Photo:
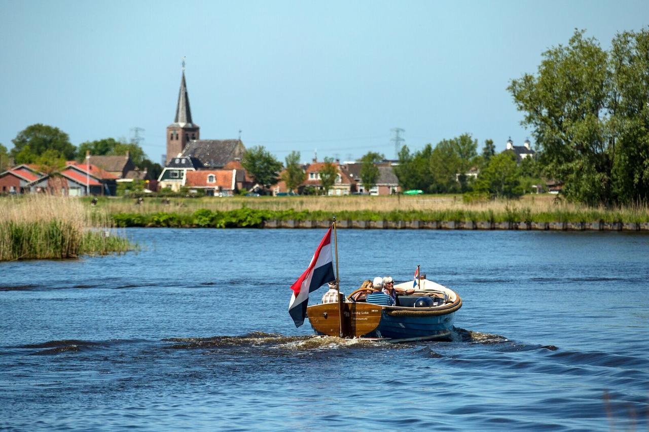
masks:
[[[169,204],[160,198],[146,198],[141,204],[104,198],[98,207],[119,226],[204,226],[204,215],[193,221],[193,215],[202,210],[217,215],[212,217],[214,221],[225,221],[214,226],[239,226],[234,219],[323,220],[332,215],[358,221],[649,222],[646,205],[593,208],[563,202],[550,194],[480,202],[465,202],[461,195],[170,198]],[[254,211],[241,213],[244,209]],[[251,225],[243,222],[241,226]]]

